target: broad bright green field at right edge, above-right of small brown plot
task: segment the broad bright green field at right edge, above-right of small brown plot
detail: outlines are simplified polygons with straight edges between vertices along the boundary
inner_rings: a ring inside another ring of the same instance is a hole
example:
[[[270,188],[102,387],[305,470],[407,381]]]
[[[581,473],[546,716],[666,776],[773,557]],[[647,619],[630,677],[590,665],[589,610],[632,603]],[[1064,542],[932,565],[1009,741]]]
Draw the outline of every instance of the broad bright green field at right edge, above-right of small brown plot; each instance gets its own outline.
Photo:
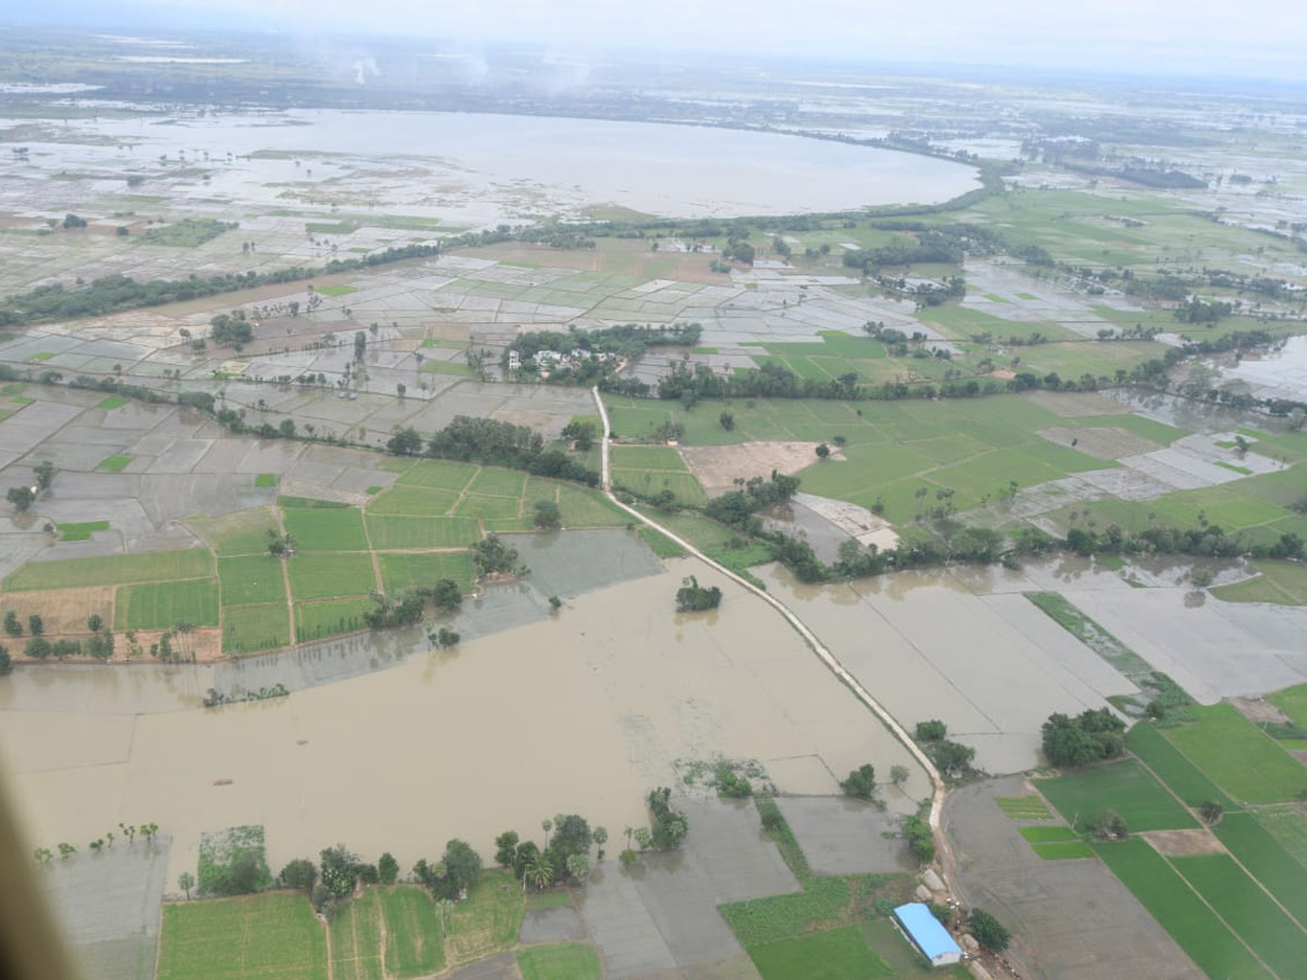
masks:
[[[1192,710],[1166,737],[1236,802],[1280,804],[1307,791],[1307,767],[1230,704]]]

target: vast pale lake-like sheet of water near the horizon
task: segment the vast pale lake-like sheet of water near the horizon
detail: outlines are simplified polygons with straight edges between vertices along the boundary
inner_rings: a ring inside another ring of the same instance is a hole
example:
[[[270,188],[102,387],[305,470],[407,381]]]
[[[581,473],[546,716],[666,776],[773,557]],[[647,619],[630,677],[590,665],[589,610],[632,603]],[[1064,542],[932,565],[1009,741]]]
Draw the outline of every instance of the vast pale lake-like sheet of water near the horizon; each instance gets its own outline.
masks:
[[[142,172],[167,154],[165,171],[182,158],[209,175],[193,191],[208,201],[285,206],[291,196],[452,221],[485,216],[488,204],[501,216],[592,204],[677,217],[829,212],[933,204],[978,187],[975,169],[951,161],[659,123],[297,110],[73,120],[58,132],[59,142],[31,142],[33,166]]]

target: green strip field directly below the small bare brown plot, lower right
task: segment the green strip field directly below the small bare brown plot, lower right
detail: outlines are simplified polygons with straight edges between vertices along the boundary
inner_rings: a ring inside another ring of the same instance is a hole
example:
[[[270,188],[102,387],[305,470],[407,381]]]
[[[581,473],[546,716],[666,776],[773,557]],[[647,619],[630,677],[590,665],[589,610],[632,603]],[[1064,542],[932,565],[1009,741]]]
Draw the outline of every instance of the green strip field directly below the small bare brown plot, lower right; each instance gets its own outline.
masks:
[[[1307,975],[1307,932],[1229,855],[1172,857],[1171,864],[1268,967],[1281,977]]]

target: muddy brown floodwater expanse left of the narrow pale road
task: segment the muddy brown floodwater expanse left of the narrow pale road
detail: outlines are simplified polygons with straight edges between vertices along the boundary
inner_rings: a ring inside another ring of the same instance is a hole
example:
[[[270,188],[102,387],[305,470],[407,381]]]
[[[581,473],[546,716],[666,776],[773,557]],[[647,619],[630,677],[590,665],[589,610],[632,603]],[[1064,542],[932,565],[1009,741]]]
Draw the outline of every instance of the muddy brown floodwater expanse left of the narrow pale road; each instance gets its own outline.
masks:
[[[289,698],[196,707],[205,668],[22,672],[0,695],[0,762],[30,844],[86,841],[119,821],[175,841],[169,881],[200,834],[263,823],[268,860],[346,843],[403,868],[464,838],[532,836],[582,813],[621,832],[673,762],[757,758],[782,791],[834,793],[863,762],[912,775],[894,742],[779,615],[698,562],[575,600],[546,622]],[[677,615],[695,574],[725,593]]]

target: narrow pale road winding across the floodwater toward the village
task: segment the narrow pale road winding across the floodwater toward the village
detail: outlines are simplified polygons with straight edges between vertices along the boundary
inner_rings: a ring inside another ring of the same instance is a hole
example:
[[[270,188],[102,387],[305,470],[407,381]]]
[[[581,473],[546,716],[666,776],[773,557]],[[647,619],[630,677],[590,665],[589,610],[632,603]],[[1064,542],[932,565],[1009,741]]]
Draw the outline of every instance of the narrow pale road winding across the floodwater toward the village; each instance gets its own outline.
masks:
[[[944,785],[944,777],[940,775],[940,771],[935,767],[935,763],[931,762],[929,757],[927,757],[927,754],[924,751],[921,751],[921,747],[916,742],[912,741],[911,736],[908,736],[908,733],[903,729],[903,727],[899,725],[899,723],[894,719],[894,716],[890,715],[881,706],[881,703],[877,702],[867,691],[867,689],[863,687],[863,685],[857,682],[857,678],[853,677],[844,668],[844,665],[839,662],[839,659],[835,657],[835,655],[831,653],[819,639],[817,639],[817,634],[814,634],[808,627],[808,625],[804,623],[802,619],[800,619],[797,615],[795,615],[795,613],[792,613],[789,610],[789,608],[786,606],[784,602],[782,602],[779,598],[776,598],[775,596],[772,596],[766,589],[761,589],[757,585],[754,585],[752,581],[748,581],[746,579],[741,578],[740,575],[736,575],[733,571],[731,571],[725,566],[718,564],[716,562],[714,562],[711,558],[708,558],[706,554],[703,554],[703,551],[701,551],[698,547],[695,547],[694,545],[691,545],[685,538],[682,538],[678,534],[673,533],[668,528],[660,525],[657,521],[655,521],[651,517],[646,516],[644,514],[642,514],[640,511],[635,510],[634,507],[629,507],[627,504],[625,504],[625,503],[622,503],[621,500],[617,499],[617,495],[613,493],[613,481],[612,481],[612,477],[610,477],[610,473],[609,473],[609,463],[608,463],[609,446],[612,443],[613,429],[612,429],[612,425],[609,425],[609,421],[608,421],[608,408],[604,405],[603,397],[600,397],[599,388],[597,387],[592,388],[591,389],[591,395],[593,395],[593,397],[595,397],[595,406],[599,409],[599,417],[604,422],[604,439],[603,439],[603,442],[600,444],[601,446],[601,456],[600,456],[600,459],[601,459],[601,470],[600,470],[600,478],[601,478],[601,483],[603,483],[603,489],[604,489],[604,495],[609,500],[612,500],[616,506],[621,507],[623,511],[626,511],[627,514],[630,514],[633,517],[638,517],[640,520],[640,523],[650,525],[651,528],[654,528],[655,531],[657,531],[661,534],[665,534],[668,538],[670,538],[677,545],[680,545],[681,547],[684,547],[689,554],[694,555],[701,562],[703,562],[707,566],[710,566],[710,567],[715,568],[716,571],[721,572],[723,575],[725,575],[727,578],[729,578],[732,581],[735,581],[736,584],[738,584],[741,588],[748,589],[754,596],[757,596],[763,602],[766,602],[772,609],[775,609],[778,613],[780,613],[786,618],[786,622],[788,622],[795,629],[795,631],[804,639],[804,642],[809,645],[809,648],[817,655],[818,660],[821,660],[822,664],[825,664],[827,666],[827,669],[830,669],[830,672],[833,674],[835,674],[835,677],[838,677],[844,683],[844,686],[847,686],[860,702],[863,702],[863,704],[865,704],[868,708],[870,708],[872,712],[876,715],[876,717],[878,717],[881,720],[881,723],[894,734],[894,737],[898,738],[904,745],[904,747],[907,747],[907,750],[910,753],[912,753],[912,758],[915,758],[918,760],[918,764],[920,764],[921,768],[924,768],[925,772],[927,772],[927,775],[929,775],[929,777],[931,777],[931,785],[933,787],[933,793],[932,793],[932,797],[931,797],[931,815],[929,815],[931,830],[935,834],[935,847],[936,847],[936,851],[940,855],[940,862],[941,862],[941,865],[945,869],[946,877],[949,877],[948,873],[951,870],[951,853],[953,852],[949,848],[949,841],[948,841],[946,835],[944,834],[944,831],[940,827],[940,817],[944,813],[944,798],[948,794],[948,789],[945,788],[945,785]]]

